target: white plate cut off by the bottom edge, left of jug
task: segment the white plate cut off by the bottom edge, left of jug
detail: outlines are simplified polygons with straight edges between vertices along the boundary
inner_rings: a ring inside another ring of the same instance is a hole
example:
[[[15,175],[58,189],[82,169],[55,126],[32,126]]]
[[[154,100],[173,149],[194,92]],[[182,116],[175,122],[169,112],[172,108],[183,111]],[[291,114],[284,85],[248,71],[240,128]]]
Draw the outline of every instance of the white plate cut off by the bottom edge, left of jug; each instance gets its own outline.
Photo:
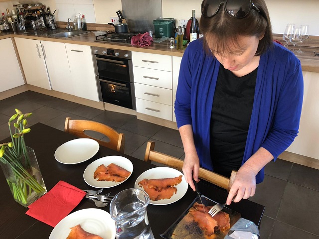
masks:
[[[111,215],[97,208],[82,209],[69,214],[55,226],[49,239],[67,238],[71,232],[70,228],[77,225],[81,225],[84,231],[103,239],[115,239],[115,222]]]

